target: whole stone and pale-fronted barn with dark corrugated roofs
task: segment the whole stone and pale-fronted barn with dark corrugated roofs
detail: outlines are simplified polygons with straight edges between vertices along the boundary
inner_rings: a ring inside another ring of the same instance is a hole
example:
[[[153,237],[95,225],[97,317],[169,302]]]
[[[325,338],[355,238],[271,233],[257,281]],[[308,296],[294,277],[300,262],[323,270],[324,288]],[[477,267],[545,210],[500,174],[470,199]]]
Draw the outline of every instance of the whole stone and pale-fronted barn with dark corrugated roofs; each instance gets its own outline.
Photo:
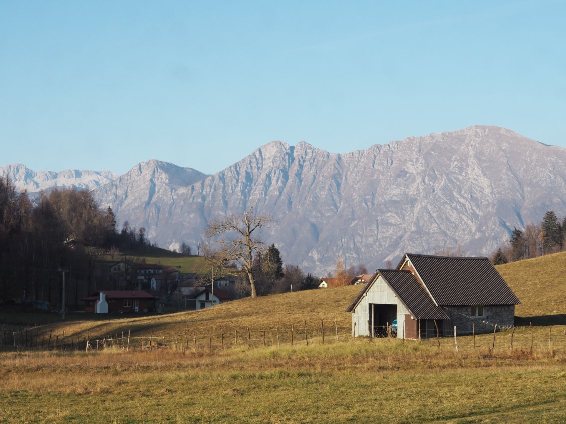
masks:
[[[396,270],[376,271],[346,311],[354,336],[417,339],[512,327],[520,303],[488,258],[407,253]]]

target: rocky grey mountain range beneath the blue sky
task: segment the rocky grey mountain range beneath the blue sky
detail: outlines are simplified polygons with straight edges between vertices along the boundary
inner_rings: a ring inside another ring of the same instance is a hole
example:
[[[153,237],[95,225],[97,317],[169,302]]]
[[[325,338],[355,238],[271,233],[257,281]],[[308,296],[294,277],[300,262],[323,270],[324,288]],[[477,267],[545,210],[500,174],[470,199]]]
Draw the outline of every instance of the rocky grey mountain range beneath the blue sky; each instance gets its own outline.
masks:
[[[337,258],[368,269],[403,252],[490,255],[514,227],[566,211],[566,149],[509,129],[473,126],[344,154],[273,141],[206,175],[151,160],[126,174],[0,168],[16,187],[93,190],[119,222],[149,240],[194,249],[207,222],[250,206],[271,215],[263,233],[285,263],[326,275]]]

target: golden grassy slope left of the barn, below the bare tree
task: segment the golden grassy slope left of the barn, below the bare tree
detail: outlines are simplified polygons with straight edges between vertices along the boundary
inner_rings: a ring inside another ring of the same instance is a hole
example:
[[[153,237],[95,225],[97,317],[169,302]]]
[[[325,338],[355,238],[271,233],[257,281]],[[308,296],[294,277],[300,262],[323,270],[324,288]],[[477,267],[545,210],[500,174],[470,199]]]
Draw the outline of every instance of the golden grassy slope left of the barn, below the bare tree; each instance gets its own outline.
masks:
[[[333,319],[336,319],[340,331],[349,332],[351,319],[345,310],[359,289],[359,286],[336,287],[248,297],[201,311],[147,317],[125,315],[125,318],[119,319],[61,322],[48,327],[58,333],[65,331],[67,335],[103,336],[130,331],[132,336],[153,334],[177,337],[183,331],[195,330],[204,335],[209,330],[220,331],[220,328],[225,334],[233,334],[236,330],[243,334],[248,327],[254,331],[264,327],[275,331],[280,327],[288,332],[291,325],[304,330],[305,321],[309,327],[318,328],[323,319],[328,327],[333,327]]]

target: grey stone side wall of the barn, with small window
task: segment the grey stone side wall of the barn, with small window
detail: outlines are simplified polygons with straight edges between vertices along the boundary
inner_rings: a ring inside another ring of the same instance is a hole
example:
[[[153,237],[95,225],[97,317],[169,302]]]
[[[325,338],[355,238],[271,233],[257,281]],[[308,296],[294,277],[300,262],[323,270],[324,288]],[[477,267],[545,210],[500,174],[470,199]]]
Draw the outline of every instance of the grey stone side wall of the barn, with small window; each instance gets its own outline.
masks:
[[[509,328],[515,325],[515,305],[486,305],[484,306],[484,317],[472,317],[470,306],[447,306],[443,308],[451,321],[445,323],[445,334],[451,334],[454,326],[458,334],[471,334],[472,323],[475,333],[487,333],[498,328]]]

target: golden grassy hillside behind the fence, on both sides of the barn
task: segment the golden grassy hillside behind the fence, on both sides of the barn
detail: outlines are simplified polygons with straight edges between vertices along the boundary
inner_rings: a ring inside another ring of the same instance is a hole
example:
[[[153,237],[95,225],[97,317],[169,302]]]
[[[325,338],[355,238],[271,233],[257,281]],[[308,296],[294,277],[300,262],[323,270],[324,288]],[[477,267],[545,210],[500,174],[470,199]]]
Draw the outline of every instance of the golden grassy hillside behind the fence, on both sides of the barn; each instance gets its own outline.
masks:
[[[566,325],[566,276],[562,264],[566,252],[541,258],[508,263],[497,269],[516,293],[522,304],[516,308],[517,325]],[[348,333],[350,314],[346,308],[359,292],[359,286],[336,287],[281,295],[245,298],[218,305],[203,311],[149,317],[124,317],[107,321],[80,321],[50,325],[55,331],[67,334],[105,335],[131,331],[132,335],[158,334],[175,337],[184,331],[200,334],[222,331],[241,334],[250,327],[260,331],[264,327],[275,331],[277,327],[289,329],[318,328],[321,320],[327,327],[336,319],[341,332]],[[288,330],[287,330],[288,331]]]

